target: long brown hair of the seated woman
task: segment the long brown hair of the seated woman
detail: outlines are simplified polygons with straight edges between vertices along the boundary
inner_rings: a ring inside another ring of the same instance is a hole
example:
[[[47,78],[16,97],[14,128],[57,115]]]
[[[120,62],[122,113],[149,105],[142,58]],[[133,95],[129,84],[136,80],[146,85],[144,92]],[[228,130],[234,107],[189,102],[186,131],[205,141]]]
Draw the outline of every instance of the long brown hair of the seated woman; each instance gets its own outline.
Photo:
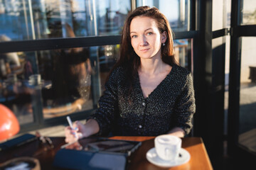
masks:
[[[130,25],[132,19],[137,16],[147,16],[149,18],[153,18],[157,23],[160,33],[164,33],[164,31],[166,31],[166,42],[165,45],[161,47],[162,60],[166,64],[177,64],[174,58],[174,40],[172,30],[167,18],[156,7],[150,8],[149,6],[140,6],[136,8],[134,11],[132,11],[132,13],[129,14],[127,20],[124,23],[122,39],[120,42],[119,60],[116,64],[114,64],[114,67],[112,68],[112,70],[114,70],[119,66],[124,67],[124,76],[127,77],[127,84],[130,88],[132,88],[133,79],[140,67],[140,58],[133,50],[130,37]]]

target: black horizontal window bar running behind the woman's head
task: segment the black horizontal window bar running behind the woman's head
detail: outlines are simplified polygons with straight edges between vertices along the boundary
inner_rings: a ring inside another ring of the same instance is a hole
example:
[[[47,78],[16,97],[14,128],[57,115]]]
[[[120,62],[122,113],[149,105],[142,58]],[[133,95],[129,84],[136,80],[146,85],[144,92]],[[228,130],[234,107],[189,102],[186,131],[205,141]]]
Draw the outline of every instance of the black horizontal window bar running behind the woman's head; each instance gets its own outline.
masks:
[[[198,31],[184,31],[174,33],[175,39],[195,38]],[[26,52],[38,50],[56,50],[73,47],[92,47],[102,45],[117,45],[120,43],[121,35],[92,36],[80,38],[50,38],[41,40],[18,40],[0,42],[0,53]]]

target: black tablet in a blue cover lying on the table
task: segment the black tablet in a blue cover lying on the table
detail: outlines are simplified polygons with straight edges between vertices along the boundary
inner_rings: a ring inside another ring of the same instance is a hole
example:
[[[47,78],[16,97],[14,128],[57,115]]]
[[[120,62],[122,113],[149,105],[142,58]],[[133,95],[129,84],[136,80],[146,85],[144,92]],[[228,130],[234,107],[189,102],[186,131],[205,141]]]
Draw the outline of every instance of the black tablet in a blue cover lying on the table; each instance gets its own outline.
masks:
[[[63,145],[56,153],[53,166],[65,169],[125,169],[127,158],[142,142],[87,137]]]

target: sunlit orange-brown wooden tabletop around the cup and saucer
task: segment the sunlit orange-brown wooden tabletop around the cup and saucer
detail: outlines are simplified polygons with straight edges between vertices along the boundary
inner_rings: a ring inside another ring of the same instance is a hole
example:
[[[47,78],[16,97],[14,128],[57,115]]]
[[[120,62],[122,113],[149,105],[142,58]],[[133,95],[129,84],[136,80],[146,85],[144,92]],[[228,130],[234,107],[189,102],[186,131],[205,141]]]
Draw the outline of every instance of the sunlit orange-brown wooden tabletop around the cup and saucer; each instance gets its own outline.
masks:
[[[134,157],[132,157],[132,164],[129,164],[128,169],[164,169],[159,166],[151,164],[146,159],[146,152],[154,147],[154,137],[110,137],[116,140],[136,140],[141,141],[142,146],[137,152],[135,152]],[[208,170],[213,169],[210,164],[210,159],[206,152],[206,147],[203,144],[201,137],[185,137],[182,138],[182,146],[191,154],[191,159],[188,163],[181,166],[171,167],[169,169],[196,169],[196,170]]]

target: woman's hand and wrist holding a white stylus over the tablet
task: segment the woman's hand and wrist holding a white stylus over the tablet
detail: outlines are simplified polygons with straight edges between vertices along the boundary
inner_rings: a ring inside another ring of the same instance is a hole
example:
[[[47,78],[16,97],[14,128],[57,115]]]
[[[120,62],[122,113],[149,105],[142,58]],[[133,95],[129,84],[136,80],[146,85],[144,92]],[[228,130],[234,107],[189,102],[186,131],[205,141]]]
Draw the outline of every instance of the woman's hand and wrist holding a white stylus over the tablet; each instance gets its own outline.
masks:
[[[65,128],[65,142],[72,143],[83,137],[89,137],[100,131],[99,124],[96,120],[87,120],[87,123],[82,124],[80,121],[73,123],[73,129],[68,126]]]

